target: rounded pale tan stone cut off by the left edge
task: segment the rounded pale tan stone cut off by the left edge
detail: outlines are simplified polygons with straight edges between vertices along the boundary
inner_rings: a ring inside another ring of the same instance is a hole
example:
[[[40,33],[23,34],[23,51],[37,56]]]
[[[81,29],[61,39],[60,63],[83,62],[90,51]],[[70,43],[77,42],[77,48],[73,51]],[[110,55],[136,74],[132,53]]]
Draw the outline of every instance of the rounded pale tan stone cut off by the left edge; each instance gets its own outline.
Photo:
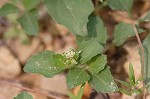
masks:
[[[0,78],[13,79],[21,72],[19,61],[5,46],[0,47]]]

